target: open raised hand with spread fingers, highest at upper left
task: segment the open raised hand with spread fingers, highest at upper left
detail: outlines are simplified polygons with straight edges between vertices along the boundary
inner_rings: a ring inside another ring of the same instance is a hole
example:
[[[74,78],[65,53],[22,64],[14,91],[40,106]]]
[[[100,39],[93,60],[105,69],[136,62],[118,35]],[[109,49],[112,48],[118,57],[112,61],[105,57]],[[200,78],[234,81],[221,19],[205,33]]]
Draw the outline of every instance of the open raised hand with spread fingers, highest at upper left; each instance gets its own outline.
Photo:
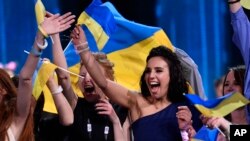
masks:
[[[62,16],[59,14],[46,13],[44,21],[41,23],[41,27],[48,34],[55,34],[62,32],[70,28],[71,24],[75,21],[75,15],[72,15],[71,12],[68,12]]]

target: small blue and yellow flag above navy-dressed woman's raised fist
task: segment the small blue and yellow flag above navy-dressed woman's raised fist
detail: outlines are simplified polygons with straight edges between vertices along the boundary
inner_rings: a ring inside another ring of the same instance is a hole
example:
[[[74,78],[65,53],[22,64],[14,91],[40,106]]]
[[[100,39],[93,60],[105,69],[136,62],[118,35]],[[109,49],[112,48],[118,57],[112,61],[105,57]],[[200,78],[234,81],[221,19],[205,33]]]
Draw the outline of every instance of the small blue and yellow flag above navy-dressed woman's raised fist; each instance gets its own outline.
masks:
[[[77,20],[78,25],[85,25],[93,35],[98,50],[103,49],[116,28],[113,14],[101,4],[101,0],[93,0]]]

